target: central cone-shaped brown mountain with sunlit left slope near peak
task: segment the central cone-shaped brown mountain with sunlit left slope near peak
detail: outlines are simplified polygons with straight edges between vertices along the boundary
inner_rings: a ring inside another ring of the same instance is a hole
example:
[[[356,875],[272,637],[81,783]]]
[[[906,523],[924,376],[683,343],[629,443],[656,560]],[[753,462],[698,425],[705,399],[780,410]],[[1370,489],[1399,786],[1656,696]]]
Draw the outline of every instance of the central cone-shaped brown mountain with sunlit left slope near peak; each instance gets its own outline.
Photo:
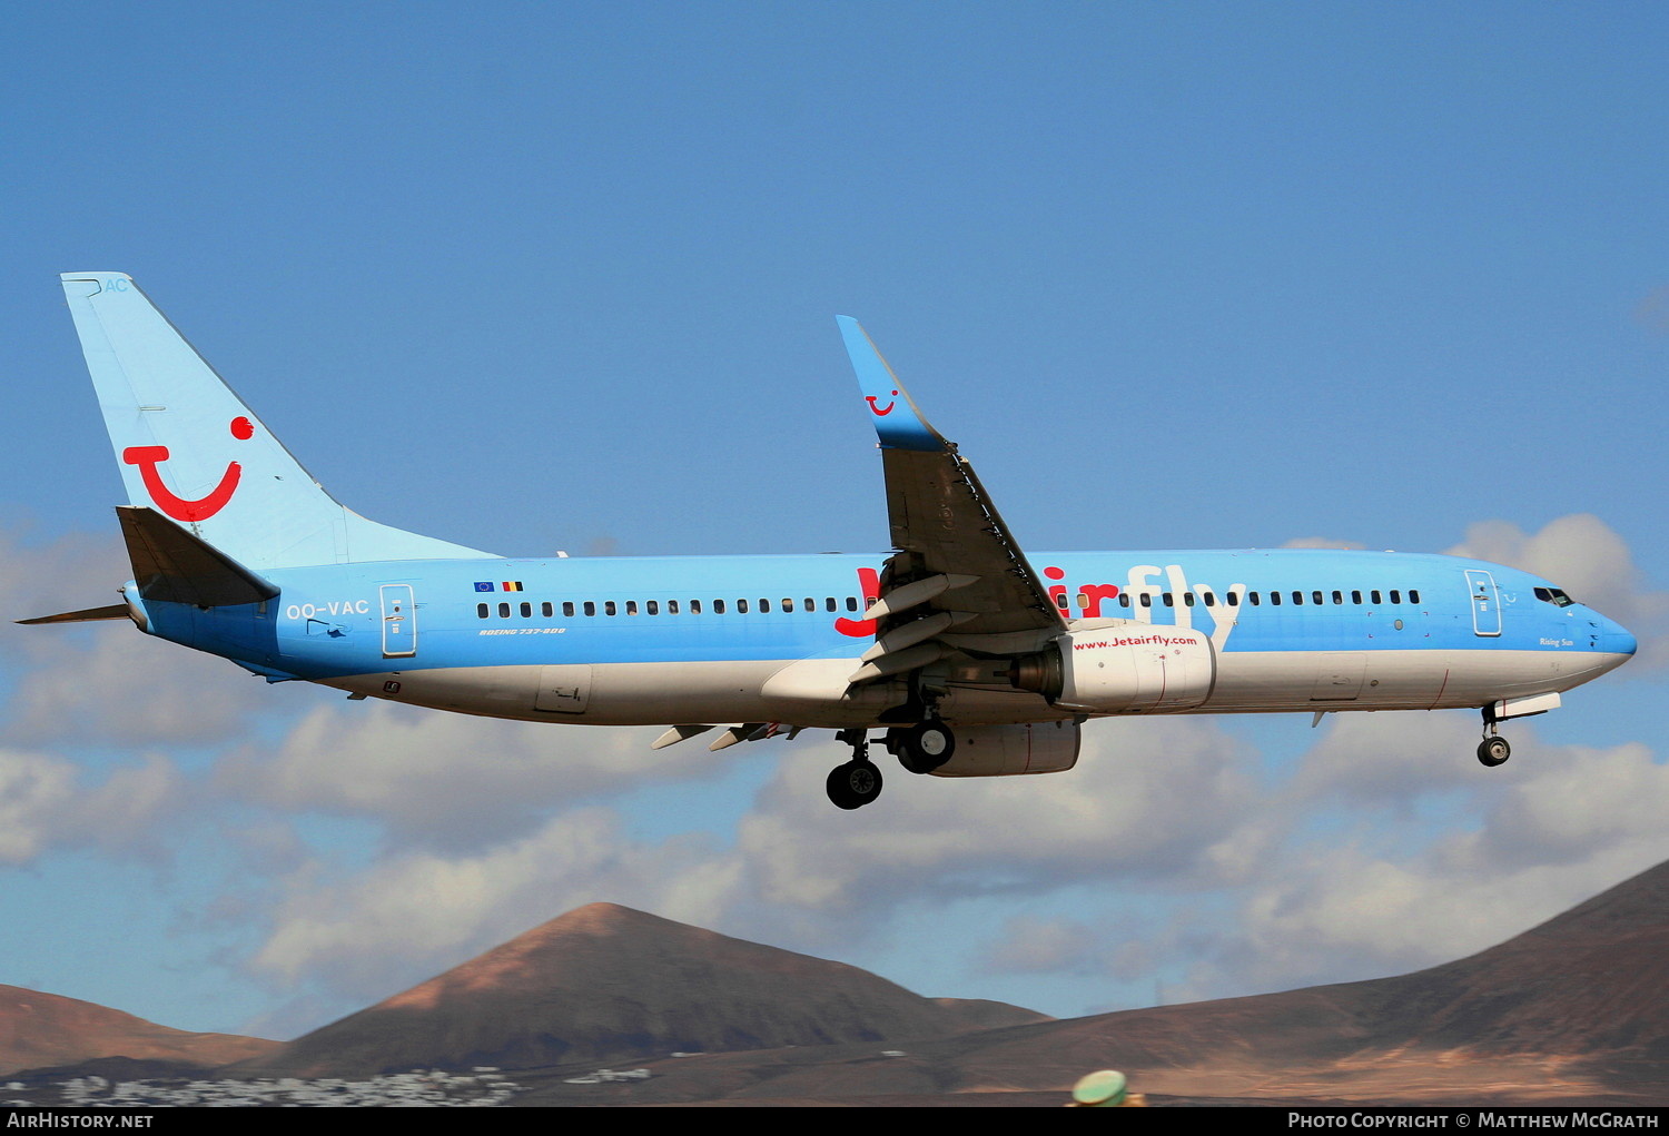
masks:
[[[841,963],[591,904],[235,1073],[608,1064],[931,1038],[1020,1021],[1045,1018],[996,1003],[933,1001]]]

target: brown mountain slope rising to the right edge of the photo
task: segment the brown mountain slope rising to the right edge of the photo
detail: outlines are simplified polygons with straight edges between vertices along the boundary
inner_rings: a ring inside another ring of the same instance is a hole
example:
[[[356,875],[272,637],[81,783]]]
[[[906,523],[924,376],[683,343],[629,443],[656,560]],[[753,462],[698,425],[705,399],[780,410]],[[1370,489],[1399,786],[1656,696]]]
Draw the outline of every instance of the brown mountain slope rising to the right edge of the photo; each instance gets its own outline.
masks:
[[[1669,1103],[1669,862],[1425,971],[998,1029],[915,1056],[951,1091],[1117,1068],[1185,1096]]]

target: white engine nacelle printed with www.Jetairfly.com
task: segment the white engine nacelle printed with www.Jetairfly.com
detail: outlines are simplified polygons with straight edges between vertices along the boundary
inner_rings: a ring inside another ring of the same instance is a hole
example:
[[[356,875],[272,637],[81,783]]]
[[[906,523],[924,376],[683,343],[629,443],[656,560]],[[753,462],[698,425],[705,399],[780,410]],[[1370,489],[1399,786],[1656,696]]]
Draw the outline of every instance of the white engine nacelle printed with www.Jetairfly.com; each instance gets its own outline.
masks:
[[[1215,681],[1210,636],[1137,621],[1068,632],[1010,669],[1021,691],[1097,714],[1188,711],[1210,697]]]

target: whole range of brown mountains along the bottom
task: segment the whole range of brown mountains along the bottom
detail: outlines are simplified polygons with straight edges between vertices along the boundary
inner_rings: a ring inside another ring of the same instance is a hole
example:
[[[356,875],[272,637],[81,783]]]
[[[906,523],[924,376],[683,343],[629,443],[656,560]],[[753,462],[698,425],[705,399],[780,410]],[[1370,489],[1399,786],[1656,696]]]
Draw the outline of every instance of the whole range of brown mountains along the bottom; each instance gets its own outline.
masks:
[[[285,1046],[0,986],[0,1068],[180,1053],[202,1068],[217,1061],[195,1046],[210,1043],[244,1048],[217,1073],[229,1078],[491,1064],[526,1104],[1055,1104],[1083,1073],[1117,1068],[1157,1103],[1662,1106],[1669,864],[1414,974],[1070,1021],[918,998],[613,904]],[[626,1063],[653,1076],[566,1081]]]

